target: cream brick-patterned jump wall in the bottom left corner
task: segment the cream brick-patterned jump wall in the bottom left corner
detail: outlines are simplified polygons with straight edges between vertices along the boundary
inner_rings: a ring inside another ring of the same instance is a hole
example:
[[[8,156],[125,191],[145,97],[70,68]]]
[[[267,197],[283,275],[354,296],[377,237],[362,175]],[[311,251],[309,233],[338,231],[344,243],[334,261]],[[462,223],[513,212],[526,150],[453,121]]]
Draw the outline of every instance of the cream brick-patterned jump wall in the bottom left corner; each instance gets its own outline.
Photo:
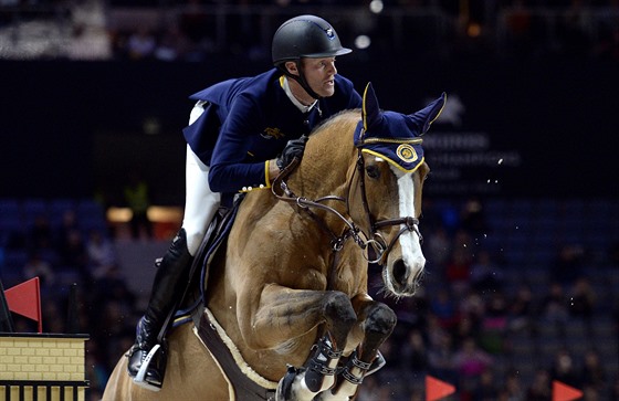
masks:
[[[0,400],[85,401],[87,339],[0,333]]]

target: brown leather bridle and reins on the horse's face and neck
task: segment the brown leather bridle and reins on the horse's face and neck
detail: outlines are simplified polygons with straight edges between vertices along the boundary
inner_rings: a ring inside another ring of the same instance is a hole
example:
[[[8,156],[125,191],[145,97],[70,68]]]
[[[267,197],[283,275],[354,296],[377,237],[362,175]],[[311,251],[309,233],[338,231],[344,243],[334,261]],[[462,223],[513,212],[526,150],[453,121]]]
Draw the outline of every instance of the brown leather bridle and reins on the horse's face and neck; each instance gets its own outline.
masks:
[[[275,178],[271,187],[271,190],[277,199],[285,202],[294,203],[298,208],[304,210],[306,213],[308,213],[310,217],[312,217],[312,219],[314,219],[318,223],[318,225],[331,235],[332,238],[331,245],[334,252],[340,251],[344,246],[344,243],[348,239],[353,239],[361,250],[366,251],[366,258],[368,260],[368,262],[378,263],[382,265],[387,258],[387,255],[389,254],[389,252],[391,251],[391,249],[394,247],[396,241],[400,238],[400,235],[402,235],[406,232],[415,232],[419,236],[420,243],[422,243],[423,238],[421,236],[421,233],[419,231],[419,219],[415,217],[403,217],[403,218],[386,219],[386,220],[378,220],[378,221],[374,219],[369,210],[369,203],[367,200],[366,182],[365,182],[365,161],[361,154],[361,146],[358,146],[357,148],[358,148],[358,156],[357,156],[356,169],[353,176],[350,177],[350,180],[348,181],[348,188],[347,188],[348,196],[346,199],[337,196],[326,196],[315,200],[310,200],[305,197],[297,197],[296,194],[294,194],[294,192],[288,188],[285,178],[298,165],[300,160],[297,158],[294,158],[293,161],[286,168],[284,168],[284,170],[282,170],[282,172],[277,176],[277,178]],[[359,228],[359,225],[353,221],[353,218],[350,217],[349,198],[353,188],[354,177],[356,173],[359,175],[361,204],[366,215],[368,233],[365,233]],[[277,188],[282,190],[282,193],[277,193]],[[348,218],[346,218],[335,208],[328,204],[324,204],[324,202],[333,201],[333,200],[346,203],[346,214],[348,215]],[[333,213],[335,217],[337,217],[342,222],[344,222],[346,226],[344,232],[340,235],[336,235],[326,225],[326,223],[312,211],[312,208],[325,210],[329,213]],[[402,228],[400,229],[398,234],[394,236],[394,239],[387,244],[379,231],[389,228],[391,225],[402,225]],[[373,247],[374,252],[376,253],[376,258],[370,260],[368,246]]]

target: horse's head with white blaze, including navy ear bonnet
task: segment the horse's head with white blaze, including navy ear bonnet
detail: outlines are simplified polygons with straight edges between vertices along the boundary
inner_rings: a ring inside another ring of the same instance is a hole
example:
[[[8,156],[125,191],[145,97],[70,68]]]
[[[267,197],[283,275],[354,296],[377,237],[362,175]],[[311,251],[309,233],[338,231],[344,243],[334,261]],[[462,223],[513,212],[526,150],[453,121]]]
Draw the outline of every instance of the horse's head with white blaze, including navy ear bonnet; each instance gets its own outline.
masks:
[[[382,265],[387,291],[396,296],[415,293],[426,258],[419,231],[421,190],[429,167],[421,136],[442,110],[443,93],[410,115],[381,112],[371,84],[364,93],[363,120],[355,133],[359,149],[359,189],[364,231]]]

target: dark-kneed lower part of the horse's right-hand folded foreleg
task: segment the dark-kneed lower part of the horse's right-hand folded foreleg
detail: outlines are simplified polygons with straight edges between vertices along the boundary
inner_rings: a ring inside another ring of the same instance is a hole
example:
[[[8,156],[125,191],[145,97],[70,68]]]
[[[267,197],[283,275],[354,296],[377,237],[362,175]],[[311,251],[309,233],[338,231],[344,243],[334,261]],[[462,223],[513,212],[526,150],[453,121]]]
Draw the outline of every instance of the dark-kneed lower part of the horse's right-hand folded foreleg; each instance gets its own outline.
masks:
[[[378,302],[363,303],[358,310],[365,338],[350,355],[342,372],[337,377],[337,386],[331,391],[321,393],[317,400],[348,400],[357,392],[368,369],[378,355],[378,348],[391,335],[397,317],[387,305]]]

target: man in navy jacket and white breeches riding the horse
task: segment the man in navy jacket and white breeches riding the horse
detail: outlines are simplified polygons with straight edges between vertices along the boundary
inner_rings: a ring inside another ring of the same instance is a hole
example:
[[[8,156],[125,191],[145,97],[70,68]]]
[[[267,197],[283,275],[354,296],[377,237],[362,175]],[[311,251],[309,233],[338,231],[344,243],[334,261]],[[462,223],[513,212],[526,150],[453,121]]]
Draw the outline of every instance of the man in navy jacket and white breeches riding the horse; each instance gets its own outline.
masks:
[[[157,263],[150,299],[128,353],[128,372],[137,384],[154,391],[161,388],[165,357],[158,337],[167,329],[164,326],[220,203],[239,192],[270,188],[294,157],[301,158],[317,124],[361,106],[353,83],[337,75],[335,67],[336,56],[350,52],[322,18],[295,17],[273,36],[274,68],[190,96],[197,103],[183,129],[185,217]]]

